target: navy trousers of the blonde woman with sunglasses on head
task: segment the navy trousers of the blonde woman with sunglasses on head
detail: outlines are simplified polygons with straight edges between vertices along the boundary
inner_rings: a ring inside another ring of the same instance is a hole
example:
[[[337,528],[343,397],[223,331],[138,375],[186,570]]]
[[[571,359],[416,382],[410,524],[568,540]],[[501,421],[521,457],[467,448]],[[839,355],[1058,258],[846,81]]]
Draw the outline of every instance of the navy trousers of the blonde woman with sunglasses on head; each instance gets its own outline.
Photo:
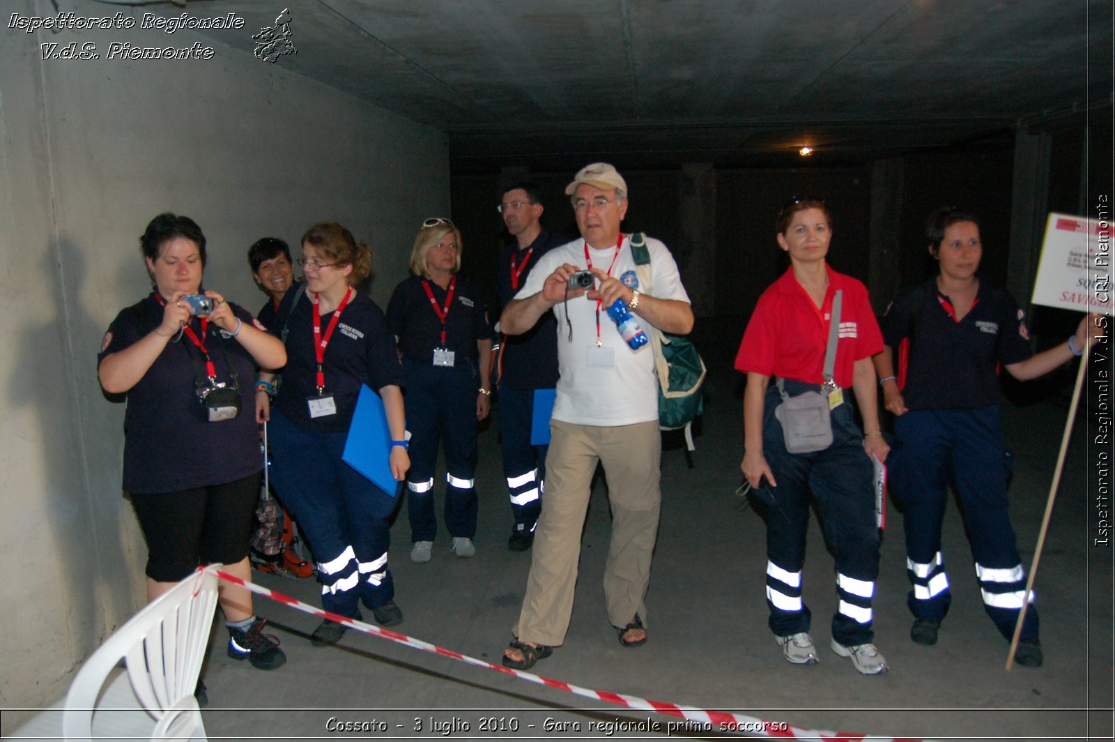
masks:
[[[445,443],[445,527],[454,538],[476,536],[476,395],[479,379],[472,362],[435,366],[406,358],[407,430],[410,471],[407,510],[410,540],[433,541],[434,468],[438,437]]]

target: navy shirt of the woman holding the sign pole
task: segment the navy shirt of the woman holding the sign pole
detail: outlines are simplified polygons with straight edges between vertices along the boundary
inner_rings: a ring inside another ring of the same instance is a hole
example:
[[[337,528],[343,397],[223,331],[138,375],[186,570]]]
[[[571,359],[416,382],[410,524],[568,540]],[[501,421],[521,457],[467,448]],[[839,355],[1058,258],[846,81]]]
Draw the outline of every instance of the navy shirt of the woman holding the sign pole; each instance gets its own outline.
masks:
[[[934,277],[921,286],[920,307],[912,306],[917,291],[911,288],[888,308],[881,322],[883,341],[898,349],[910,338],[902,388],[906,407],[976,409],[1000,403],[999,364],[1026,360],[1034,351],[1018,302],[1006,291],[996,301],[996,293],[981,280],[976,303],[958,322]]]

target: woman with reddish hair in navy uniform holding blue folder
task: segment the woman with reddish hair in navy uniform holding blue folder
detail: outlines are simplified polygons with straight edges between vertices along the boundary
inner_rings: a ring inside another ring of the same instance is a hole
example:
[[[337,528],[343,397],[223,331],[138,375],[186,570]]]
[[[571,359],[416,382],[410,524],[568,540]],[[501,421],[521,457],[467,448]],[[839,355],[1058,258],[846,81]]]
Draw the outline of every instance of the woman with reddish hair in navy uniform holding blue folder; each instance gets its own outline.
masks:
[[[326,610],[361,619],[362,601],[381,626],[403,621],[387,568],[394,493],[341,460],[362,384],[379,393],[391,434],[391,474],[410,466],[403,369],[384,312],[356,285],[371,272],[371,249],[340,224],[302,237],[306,295],[291,309],[288,363],[271,411],[271,481],[294,511],[318,565]],[[326,620],[310,637],[336,644],[346,627]]]

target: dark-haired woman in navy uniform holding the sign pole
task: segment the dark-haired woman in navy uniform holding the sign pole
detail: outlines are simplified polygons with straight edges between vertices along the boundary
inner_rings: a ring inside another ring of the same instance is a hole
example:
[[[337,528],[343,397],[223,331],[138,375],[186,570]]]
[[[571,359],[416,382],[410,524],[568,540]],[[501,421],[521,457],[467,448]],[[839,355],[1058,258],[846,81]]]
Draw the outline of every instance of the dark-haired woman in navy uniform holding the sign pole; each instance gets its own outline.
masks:
[[[889,473],[892,491],[904,505],[906,571],[913,584],[906,599],[914,616],[910,638],[935,644],[952,599],[941,552],[951,479],[983,607],[1010,640],[1025,599],[1026,572],[1007,514],[1009,468],[999,424],[998,370],[1001,366],[1019,380],[1047,374],[1083,355],[1103,328],[1085,317],[1066,341],[1035,355],[1025,314],[1014,297],[978,276],[979,220],[942,209],[930,218],[925,237],[939,272],[888,308],[882,324],[885,346],[875,356],[884,404],[896,415],[898,444]],[[1015,659],[1026,667],[1041,665],[1034,606],[1026,610]]]

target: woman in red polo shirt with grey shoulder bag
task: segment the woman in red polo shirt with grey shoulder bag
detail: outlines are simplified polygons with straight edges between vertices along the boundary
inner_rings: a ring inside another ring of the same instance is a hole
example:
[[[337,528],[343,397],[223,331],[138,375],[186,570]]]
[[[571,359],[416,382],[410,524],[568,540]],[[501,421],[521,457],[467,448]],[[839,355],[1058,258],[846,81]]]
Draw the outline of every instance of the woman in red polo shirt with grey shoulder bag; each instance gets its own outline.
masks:
[[[864,286],[825,262],[832,219],[823,201],[789,202],[778,215],[777,232],[791,268],[759,297],[736,357],[736,369],[747,374],[740,469],[770,505],[768,625],[788,662],[817,662],[808,634],[811,614],[802,598],[812,493],[836,555],[840,607],[832,620],[832,649],[850,657],[860,673],[878,675],[886,672],[886,662],[872,644],[879,530],[871,456],[884,461],[889,449],[879,430],[871,356],[882,349],[882,336]],[[838,340],[832,377],[826,379],[825,350],[837,292]],[[807,392],[820,393],[826,402],[832,442],[809,453],[791,453],[775,408],[784,398]],[[855,424],[849,392],[855,396],[866,434]]]

